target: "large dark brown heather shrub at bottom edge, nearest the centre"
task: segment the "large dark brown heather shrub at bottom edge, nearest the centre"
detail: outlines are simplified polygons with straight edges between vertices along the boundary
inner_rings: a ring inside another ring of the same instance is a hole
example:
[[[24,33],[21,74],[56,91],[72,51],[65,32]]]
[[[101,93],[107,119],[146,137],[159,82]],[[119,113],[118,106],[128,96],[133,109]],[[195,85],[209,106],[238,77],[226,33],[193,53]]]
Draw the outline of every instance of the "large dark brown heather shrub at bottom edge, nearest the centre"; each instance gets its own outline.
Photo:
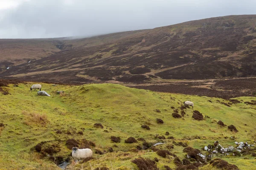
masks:
[[[131,161],[132,163],[136,164],[139,170],[159,170],[157,165],[154,161],[146,158],[137,158]]]

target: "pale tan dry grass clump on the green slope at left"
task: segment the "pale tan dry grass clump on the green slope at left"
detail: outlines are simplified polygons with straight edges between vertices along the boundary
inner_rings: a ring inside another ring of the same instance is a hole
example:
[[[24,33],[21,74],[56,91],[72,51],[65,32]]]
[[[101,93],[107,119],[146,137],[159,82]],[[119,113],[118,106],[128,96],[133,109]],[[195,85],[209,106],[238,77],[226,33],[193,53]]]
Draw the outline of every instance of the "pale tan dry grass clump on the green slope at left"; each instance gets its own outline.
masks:
[[[42,125],[45,126],[47,123],[49,123],[49,120],[47,119],[47,115],[45,114],[39,114],[39,113],[28,113],[26,111],[23,111],[22,114],[26,117],[24,123],[26,125]]]

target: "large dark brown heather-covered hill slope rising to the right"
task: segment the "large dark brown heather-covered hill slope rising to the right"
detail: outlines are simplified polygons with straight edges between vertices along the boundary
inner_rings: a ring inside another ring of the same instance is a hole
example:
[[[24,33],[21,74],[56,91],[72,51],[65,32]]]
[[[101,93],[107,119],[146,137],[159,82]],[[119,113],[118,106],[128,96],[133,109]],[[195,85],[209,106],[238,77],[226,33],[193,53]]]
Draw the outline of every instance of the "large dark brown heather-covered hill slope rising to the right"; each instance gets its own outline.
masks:
[[[65,40],[66,46],[76,48],[17,65],[0,77],[143,83],[255,76],[255,23],[256,15],[237,15],[109,34],[105,39]]]

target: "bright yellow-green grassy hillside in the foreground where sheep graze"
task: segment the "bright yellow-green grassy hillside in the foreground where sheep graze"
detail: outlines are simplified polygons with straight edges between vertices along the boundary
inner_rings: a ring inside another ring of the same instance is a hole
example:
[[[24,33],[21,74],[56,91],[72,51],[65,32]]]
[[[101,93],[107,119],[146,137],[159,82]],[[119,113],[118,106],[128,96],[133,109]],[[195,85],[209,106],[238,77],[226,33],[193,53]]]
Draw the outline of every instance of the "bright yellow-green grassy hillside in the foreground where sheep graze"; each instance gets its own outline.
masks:
[[[201,150],[214,141],[218,141],[223,147],[235,147],[236,141],[253,144],[256,139],[256,106],[244,103],[256,100],[255,97],[237,98],[243,102],[232,105],[230,103],[231,107],[228,107],[220,103],[229,102],[223,99],[157,93],[122,85],[52,86],[43,83],[42,90],[51,95],[47,97],[30,91],[32,84],[34,83],[19,84],[18,87],[9,85],[3,89],[9,90],[11,95],[0,94],[0,170],[22,167],[27,170],[57,170],[58,166],[50,159],[58,163],[70,157],[71,150],[66,145],[68,139],[77,140],[79,146],[83,143],[81,139],[95,143],[95,146],[90,144],[94,159],[84,163],[70,160],[71,164],[67,167],[69,170],[81,169],[82,166],[89,170],[90,165],[93,169],[113,167],[114,170],[137,170],[131,160],[140,156],[151,160],[155,157],[159,159],[157,167],[160,170],[164,170],[165,165],[175,169],[172,156],[162,158],[154,150],[169,150],[182,160],[186,156],[183,153],[184,147],[175,143],[182,142]],[[59,90],[65,91],[65,94],[56,94]],[[192,108],[184,109],[186,115],[182,118],[172,116],[175,109],[181,113],[180,106],[186,100],[195,103],[194,110],[200,111],[204,120],[193,119]],[[157,118],[164,123],[157,123]],[[234,125],[239,132],[231,132],[227,127],[221,127],[217,124],[219,120],[226,125]],[[95,123],[101,123],[103,128],[94,127]],[[150,130],[143,129],[141,125],[148,125]],[[166,132],[170,134],[166,135]],[[165,136],[166,139],[158,139],[157,134]],[[120,137],[121,142],[111,142],[111,136]],[[148,144],[165,144],[137,150],[137,146],[142,147],[143,142],[125,143],[125,139],[130,136],[135,139],[144,138]],[[169,136],[174,139],[167,139]],[[35,151],[37,144],[42,146],[40,153]],[[171,145],[174,146],[173,149],[168,147]],[[114,152],[109,152],[109,147]],[[104,154],[96,154],[96,150]],[[50,156],[51,153],[53,157]],[[251,154],[241,154],[241,157],[215,154],[215,157],[235,164],[241,170],[256,169],[255,157]],[[215,169],[209,164],[199,168],[205,170],[207,167]]]

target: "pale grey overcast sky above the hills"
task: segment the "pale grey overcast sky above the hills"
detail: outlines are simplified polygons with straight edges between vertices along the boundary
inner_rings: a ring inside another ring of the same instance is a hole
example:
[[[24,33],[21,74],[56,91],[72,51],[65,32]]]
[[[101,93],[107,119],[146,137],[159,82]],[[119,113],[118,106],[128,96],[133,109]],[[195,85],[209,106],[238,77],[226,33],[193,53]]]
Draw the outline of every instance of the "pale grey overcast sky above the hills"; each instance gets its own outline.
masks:
[[[233,14],[255,0],[0,0],[0,38],[92,36]]]

